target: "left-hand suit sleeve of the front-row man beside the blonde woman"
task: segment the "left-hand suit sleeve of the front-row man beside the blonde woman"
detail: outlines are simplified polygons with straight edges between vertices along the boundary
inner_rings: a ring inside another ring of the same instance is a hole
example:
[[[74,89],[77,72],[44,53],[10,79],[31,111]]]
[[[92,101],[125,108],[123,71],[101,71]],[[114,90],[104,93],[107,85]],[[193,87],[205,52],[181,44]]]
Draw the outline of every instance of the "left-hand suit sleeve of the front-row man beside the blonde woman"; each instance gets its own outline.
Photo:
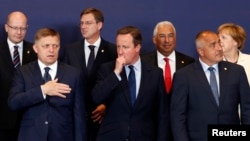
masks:
[[[170,120],[175,141],[188,141],[187,101],[188,81],[185,74],[175,73],[172,85]]]

